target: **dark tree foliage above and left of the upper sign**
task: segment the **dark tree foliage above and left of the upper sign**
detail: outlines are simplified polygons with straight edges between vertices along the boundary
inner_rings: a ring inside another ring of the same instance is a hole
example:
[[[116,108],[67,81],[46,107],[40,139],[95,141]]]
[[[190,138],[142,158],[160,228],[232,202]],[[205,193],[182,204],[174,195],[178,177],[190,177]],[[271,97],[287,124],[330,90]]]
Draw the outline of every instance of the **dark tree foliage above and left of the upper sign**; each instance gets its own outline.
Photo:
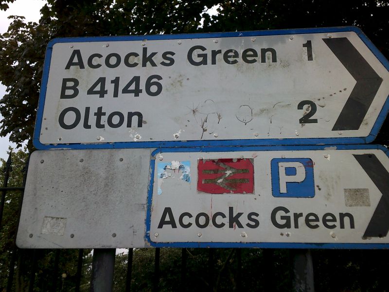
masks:
[[[218,7],[216,15],[207,13],[211,7]],[[356,25],[389,55],[388,0],[48,0],[41,14],[39,23],[14,17],[0,37],[0,81],[7,87],[0,100],[0,135],[10,134],[18,146],[29,141],[29,148],[45,48],[54,37]],[[388,144],[386,128],[377,142]]]

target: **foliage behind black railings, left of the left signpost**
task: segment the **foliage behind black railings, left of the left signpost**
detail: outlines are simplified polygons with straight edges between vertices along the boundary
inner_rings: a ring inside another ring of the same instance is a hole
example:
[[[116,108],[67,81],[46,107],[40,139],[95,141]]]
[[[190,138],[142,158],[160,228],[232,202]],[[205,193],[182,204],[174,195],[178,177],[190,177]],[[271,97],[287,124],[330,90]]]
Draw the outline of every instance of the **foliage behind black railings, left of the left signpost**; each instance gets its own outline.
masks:
[[[9,149],[12,158],[8,187],[20,187],[23,183],[25,165],[28,158],[26,149],[14,151]],[[1,170],[5,169],[6,162],[0,159]],[[0,182],[4,180],[5,172],[0,172]],[[18,217],[20,207],[20,191],[7,191],[5,197],[4,213],[0,230],[0,291],[8,284],[9,269],[12,262],[12,254],[15,253],[15,274],[13,291],[28,291],[30,274],[33,266],[33,258],[36,258],[35,290],[55,291],[53,285],[65,287],[63,291],[70,291],[75,286],[75,274],[77,271],[78,250],[61,250],[58,254],[58,274],[53,274],[55,256],[59,250],[22,250],[15,248],[15,238],[18,230]],[[84,251],[88,262],[89,250]],[[87,274],[88,268],[85,269]],[[61,282],[61,274],[67,277]],[[56,281],[54,281],[54,278]],[[88,285],[89,278],[83,278],[83,284]],[[55,284],[56,283],[56,284]],[[66,288],[68,287],[68,288]],[[4,290],[5,291],[5,290]]]

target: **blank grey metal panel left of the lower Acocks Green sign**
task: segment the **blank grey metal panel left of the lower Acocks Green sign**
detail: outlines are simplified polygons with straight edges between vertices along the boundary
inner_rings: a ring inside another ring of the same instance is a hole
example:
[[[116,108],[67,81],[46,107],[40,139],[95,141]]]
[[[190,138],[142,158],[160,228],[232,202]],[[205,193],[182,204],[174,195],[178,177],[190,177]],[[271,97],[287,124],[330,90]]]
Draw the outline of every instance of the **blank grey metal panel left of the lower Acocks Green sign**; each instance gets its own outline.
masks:
[[[150,149],[31,155],[20,248],[144,247]]]

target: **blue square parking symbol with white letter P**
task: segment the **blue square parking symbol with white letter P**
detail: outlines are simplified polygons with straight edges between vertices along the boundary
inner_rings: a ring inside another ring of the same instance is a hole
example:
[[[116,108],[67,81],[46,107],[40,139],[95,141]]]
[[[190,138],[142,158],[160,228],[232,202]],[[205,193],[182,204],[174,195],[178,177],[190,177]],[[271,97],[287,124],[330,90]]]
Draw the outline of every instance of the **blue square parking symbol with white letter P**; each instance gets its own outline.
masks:
[[[273,197],[315,197],[313,161],[310,158],[273,158],[270,167]]]

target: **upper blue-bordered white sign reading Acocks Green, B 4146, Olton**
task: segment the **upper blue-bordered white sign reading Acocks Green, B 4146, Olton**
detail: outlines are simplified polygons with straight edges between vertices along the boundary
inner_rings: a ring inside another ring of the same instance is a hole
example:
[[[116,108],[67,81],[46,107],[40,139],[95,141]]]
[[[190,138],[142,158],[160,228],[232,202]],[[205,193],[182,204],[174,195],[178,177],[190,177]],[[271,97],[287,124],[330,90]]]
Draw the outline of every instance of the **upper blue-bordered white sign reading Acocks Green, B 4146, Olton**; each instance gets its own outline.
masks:
[[[388,68],[355,27],[54,39],[34,145],[369,143]]]

